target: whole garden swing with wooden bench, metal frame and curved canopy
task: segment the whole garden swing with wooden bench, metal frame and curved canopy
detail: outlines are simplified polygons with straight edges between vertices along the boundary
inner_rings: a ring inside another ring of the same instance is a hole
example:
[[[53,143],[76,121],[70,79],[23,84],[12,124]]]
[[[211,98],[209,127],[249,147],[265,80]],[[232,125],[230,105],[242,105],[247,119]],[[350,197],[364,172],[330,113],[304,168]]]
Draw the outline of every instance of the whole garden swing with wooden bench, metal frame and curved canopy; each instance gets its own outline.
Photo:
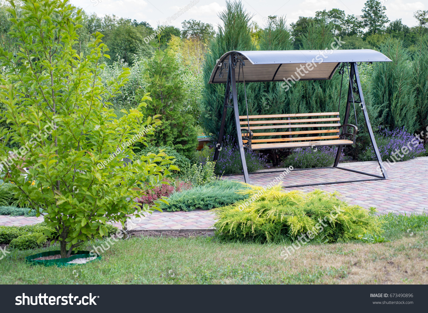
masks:
[[[373,135],[372,126],[370,124],[369,115],[367,113],[363,97],[360,76],[358,73],[358,65],[363,62],[372,63],[384,61],[391,60],[378,51],[366,49],[321,51],[229,51],[228,53],[225,53],[219,60],[217,60],[217,64],[214,67],[209,80],[210,84],[226,83],[220,132],[217,140],[217,146],[215,147],[214,151],[213,161],[217,161],[219,152],[221,150],[227,109],[233,108],[238,135],[238,146],[246,183],[249,183],[250,179],[245,161],[244,148],[249,150],[262,150],[303,147],[313,148],[315,146],[338,146],[334,165],[333,167],[327,168],[336,168],[339,170],[346,170],[370,176],[370,178],[352,181],[335,181],[285,187],[304,187],[321,184],[339,184],[356,181],[387,179],[388,176],[386,174],[385,168],[383,167],[375,136]],[[236,76],[237,66],[238,77]],[[342,75],[342,80],[337,112],[312,112],[273,115],[248,114],[247,91],[245,87],[246,82],[283,82],[282,86],[286,87],[285,84],[291,86],[290,82],[295,83],[297,80],[332,79],[333,74],[338,69],[339,74]],[[302,70],[303,73],[301,72]],[[226,75],[224,75],[225,73]],[[349,79],[348,99],[346,102],[343,124],[341,124],[339,109],[342,97],[343,77],[345,74]],[[244,85],[245,104],[247,108],[247,115],[241,116],[239,115],[238,111],[237,97],[237,88],[239,87],[239,83],[243,83]],[[372,142],[382,176],[338,167],[343,146],[355,144],[358,127],[357,125],[349,124],[348,120],[351,113],[351,105],[353,105],[355,123],[357,124],[356,104],[360,105],[360,108],[363,111],[366,126],[369,131],[369,137]],[[348,132],[348,128],[353,129],[352,133]],[[269,171],[269,173],[272,173],[272,171]]]

